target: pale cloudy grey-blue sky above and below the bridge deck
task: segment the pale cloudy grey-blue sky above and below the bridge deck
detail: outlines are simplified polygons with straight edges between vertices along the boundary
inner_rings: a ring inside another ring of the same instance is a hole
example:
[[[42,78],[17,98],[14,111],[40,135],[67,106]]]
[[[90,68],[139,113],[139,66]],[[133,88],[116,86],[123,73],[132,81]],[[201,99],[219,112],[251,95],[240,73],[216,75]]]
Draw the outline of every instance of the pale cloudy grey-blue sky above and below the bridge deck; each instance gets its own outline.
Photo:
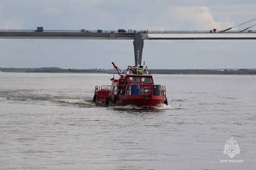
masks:
[[[0,0],[0,29],[222,30],[256,18],[255,9],[256,1],[239,0]],[[144,40],[142,61],[159,69],[256,68],[255,43]],[[112,61],[134,65],[133,40],[0,39],[0,67],[109,69]]]

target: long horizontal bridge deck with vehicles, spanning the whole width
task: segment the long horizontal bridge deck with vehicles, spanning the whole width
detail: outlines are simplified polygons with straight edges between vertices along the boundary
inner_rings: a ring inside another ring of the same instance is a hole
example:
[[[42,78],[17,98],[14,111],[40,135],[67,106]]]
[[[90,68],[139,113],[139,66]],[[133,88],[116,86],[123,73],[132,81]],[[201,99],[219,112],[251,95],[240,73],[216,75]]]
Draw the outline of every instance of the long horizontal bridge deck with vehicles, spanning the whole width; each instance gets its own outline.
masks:
[[[209,31],[131,31],[126,33],[118,33],[117,31],[97,30],[44,30],[37,32],[36,30],[0,30],[0,38],[13,39],[117,39],[117,40],[133,40],[134,35],[141,33],[145,40],[210,40],[210,39],[256,39],[256,31],[242,32],[227,31],[210,33]]]

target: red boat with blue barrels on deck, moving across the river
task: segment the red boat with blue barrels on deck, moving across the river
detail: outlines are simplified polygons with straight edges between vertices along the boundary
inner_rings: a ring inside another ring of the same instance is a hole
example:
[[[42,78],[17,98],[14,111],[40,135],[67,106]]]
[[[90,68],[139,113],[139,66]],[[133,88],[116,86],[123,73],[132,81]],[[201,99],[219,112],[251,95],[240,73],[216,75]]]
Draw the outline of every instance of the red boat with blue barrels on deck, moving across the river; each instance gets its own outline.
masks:
[[[112,62],[119,79],[112,78],[110,86],[96,86],[93,101],[96,106],[157,106],[168,104],[165,86],[155,85],[153,76],[148,73],[147,67],[127,67],[124,74]]]

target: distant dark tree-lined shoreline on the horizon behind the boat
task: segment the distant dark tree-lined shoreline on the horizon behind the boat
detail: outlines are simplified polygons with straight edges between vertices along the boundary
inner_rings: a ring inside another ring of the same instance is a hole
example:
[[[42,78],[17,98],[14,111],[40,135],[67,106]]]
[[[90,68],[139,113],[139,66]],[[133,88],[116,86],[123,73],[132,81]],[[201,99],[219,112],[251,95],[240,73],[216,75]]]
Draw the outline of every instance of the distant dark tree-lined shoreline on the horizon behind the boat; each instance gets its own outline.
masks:
[[[0,72],[45,72],[45,73],[106,73],[114,74],[113,69],[62,69],[42,68],[1,68]],[[165,75],[256,75],[256,69],[151,69],[151,74]]]

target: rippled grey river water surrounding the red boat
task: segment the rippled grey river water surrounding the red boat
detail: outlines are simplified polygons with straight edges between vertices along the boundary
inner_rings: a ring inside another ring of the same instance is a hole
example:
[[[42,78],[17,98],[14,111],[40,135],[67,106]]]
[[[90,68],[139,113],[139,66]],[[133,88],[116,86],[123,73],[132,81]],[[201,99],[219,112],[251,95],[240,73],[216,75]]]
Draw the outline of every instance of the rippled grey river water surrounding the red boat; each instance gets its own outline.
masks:
[[[256,169],[252,76],[155,75],[168,106],[94,106],[111,76],[0,72],[0,169]]]

